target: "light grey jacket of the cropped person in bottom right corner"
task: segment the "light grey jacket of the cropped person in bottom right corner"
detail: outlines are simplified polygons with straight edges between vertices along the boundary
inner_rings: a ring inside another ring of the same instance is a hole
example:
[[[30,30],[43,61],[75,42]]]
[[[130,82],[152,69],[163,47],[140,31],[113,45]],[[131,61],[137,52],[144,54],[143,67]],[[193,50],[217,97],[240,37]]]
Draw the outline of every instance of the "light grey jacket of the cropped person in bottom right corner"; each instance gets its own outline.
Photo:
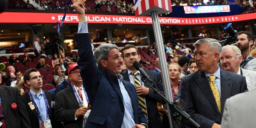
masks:
[[[221,128],[255,128],[256,89],[230,97],[225,102]]]

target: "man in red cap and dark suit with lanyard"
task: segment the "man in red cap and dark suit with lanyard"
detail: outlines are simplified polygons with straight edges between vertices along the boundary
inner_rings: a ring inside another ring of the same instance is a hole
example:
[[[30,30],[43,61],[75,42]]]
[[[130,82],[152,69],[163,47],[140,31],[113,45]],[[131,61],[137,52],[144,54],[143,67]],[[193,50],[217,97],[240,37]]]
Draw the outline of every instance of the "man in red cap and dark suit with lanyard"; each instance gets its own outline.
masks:
[[[90,105],[84,89],[77,63],[68,67],[68,79],[71,86],[55,96],[55,117],[64,123],[64,128],[82,128],[90,114]]]

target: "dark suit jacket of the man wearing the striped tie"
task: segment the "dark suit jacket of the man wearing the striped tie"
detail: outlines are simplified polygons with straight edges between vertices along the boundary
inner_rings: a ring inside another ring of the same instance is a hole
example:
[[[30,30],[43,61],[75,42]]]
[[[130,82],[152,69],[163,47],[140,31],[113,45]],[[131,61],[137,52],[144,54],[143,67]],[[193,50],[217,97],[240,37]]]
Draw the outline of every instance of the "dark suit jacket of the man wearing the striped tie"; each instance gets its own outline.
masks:
[[[153,71],[144,70],[150,79],[152,79],[156,84],[157,87],[154,86],[154,88],[158,88],[159,91],[164,94],[163,91],[163,84],[160,79],[160,76],[158,73],[155,73]],[[121,75],[124,76],[124,80],[130,82],[129,75],[127,69],[122,71]],[[148,86],[144,83],[145,86]],[[134,86],[133,86],[134,87]],[[154,94],[154,90],[152,88],[149,88],[148,95],[145,96],[146,98],[146,107],[147,107],[147,113],[148,113],[148,124],[150,128],[162,128],[161,118],[157,109],[157,102],[163,103],[163,98],[159,94]]]

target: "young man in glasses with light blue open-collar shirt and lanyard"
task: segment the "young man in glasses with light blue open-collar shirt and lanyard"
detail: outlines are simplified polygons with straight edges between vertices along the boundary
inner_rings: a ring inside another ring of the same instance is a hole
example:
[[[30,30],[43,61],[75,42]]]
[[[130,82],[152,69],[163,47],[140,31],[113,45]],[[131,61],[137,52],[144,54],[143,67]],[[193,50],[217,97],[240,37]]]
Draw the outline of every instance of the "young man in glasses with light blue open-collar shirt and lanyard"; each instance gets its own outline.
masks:
[[[42,90],[43,76],[40,72],[31,68],[24,73],[24,82],[30,86],[29,92],[22,95],[32,128],[58,128],[54,117],[55,95],[52,92]]]

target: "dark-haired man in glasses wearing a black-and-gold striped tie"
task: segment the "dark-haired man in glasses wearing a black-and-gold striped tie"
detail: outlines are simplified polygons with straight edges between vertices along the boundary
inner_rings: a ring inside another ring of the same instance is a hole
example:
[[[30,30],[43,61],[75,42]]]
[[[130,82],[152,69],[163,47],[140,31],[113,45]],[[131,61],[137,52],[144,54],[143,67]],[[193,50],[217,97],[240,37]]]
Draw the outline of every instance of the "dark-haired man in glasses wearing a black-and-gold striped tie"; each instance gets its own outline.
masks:
[[[124,76],[124,80],[132,83],[135,87],[135,75],[132,75],[132,73],[137,73],[140,85],[142,86],[136,86],[135,89],[137,91],[137,95],[142,97],[145,101],[144,104],[146,104],[146,118],[148,119],[148,126],[149,128],[162,128],[163,126],[161,124],[161,118],[158,113],[157,102],[163,103],[164,101],[159,94],[154,93],[152,88],[146,87],[148,85],[142,82],[142,76],[140,72],[132,66],[133,62],[139,62],[139,60],[141,60],[141,56],[138,53],[139,51],[134,45],[127,44],[124,46],[122,55],[124,57],[123,60],[127,69],[122,71],[121,75]],[[156,85],[153,85],[154,88],[158,88],[159,91],[164,94],[163,85],[161,83],[159,74],[149,70],[144,71],[154,81],[154,83],[156,83]]]

